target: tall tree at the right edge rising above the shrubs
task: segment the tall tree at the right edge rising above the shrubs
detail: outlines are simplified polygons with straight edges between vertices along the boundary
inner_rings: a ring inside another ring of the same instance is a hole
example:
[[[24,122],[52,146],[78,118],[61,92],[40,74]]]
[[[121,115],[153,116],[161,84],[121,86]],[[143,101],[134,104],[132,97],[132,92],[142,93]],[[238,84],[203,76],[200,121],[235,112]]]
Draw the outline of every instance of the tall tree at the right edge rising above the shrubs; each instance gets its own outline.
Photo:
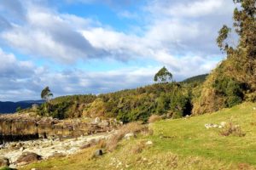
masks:
[[[226,42],[231,29],[228,26],[218,32],[218,47],[226,51],[233,59],[233,74],[240,82],[246,82],[251,91],[256,90],[256,1],[233,0],[240,3],[233,14],[233,26],[239,41],[236,48],[230,48]],[[254,92],[255,93],[255,92]],[[256,94],[255,94],[256,95]]]

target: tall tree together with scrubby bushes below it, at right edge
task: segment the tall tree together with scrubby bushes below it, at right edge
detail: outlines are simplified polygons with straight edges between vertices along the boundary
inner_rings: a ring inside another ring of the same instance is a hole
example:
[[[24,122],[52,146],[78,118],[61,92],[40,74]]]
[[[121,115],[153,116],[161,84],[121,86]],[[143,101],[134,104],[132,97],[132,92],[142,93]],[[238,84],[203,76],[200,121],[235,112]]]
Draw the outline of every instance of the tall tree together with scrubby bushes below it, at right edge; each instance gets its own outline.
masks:
[[[218,47],[227,58],[212,71],[195,99],[193,113],[203,114],[231,107],[241,101],[256,101],[256,20],[255,1],[234,1],[241,8],[234,10],[234,27],[239,37],[237,46],[227,38],[231,29],[223,26],[217,38]]]

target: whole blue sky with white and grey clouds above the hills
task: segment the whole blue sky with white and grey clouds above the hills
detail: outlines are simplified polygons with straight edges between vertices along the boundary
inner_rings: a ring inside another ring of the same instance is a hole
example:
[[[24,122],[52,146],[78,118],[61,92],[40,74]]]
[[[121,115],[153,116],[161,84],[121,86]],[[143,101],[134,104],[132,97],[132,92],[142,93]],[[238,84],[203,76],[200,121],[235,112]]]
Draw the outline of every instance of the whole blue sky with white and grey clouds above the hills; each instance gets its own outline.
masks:
[[[102,94],[175,81],[224,59],[232,0],[0,0],[0,101]]]

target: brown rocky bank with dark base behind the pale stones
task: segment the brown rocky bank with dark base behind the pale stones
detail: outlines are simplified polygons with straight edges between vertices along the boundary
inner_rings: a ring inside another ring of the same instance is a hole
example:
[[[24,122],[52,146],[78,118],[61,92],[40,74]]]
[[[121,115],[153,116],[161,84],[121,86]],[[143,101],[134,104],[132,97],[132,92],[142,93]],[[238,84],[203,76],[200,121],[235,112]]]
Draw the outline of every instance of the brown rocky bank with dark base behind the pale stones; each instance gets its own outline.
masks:
[[[52,117],[12,114],[0,116],[0,144],[5,141],[28,139],[73,138],[93,133],[104,133],[121,125],[115,119],[77,118],[58,120]]]

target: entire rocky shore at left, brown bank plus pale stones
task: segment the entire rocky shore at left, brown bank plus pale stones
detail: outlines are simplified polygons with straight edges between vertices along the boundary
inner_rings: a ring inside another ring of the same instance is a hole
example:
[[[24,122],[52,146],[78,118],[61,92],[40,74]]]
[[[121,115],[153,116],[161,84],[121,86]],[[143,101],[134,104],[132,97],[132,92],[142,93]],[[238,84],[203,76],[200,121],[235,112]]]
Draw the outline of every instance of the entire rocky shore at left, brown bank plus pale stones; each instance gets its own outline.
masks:
[[[108,139],[120,126],[122,122],[99,117],[58,120],[31,114],[0,116],[0,167],[72,155]]]

